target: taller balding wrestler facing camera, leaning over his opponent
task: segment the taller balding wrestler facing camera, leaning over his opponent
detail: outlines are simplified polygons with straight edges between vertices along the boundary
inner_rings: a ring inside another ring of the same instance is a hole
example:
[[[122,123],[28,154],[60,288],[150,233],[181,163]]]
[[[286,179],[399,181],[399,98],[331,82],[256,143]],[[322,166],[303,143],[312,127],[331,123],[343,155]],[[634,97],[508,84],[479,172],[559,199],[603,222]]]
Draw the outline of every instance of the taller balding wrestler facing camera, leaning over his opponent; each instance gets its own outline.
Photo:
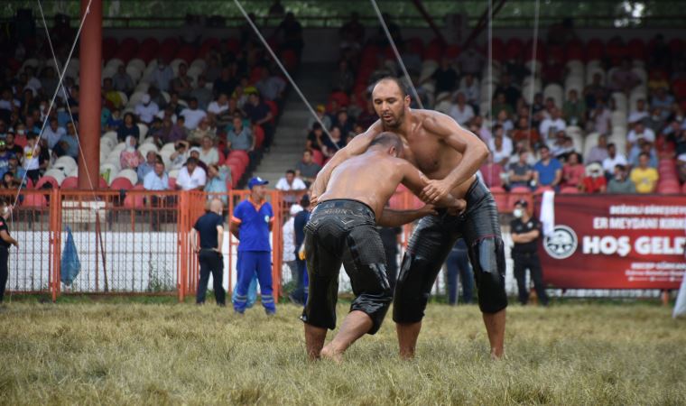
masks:
[[[375,135],[393,131],[403,139],[404,158],[429,177],[420,198],[436,203],[452,195],[464,198],[467,209],[459,216],[440,213],[422,218],[414,228],[403,257],[394,295],[394,314],[400,355],[413,357],[427,300],[442,263],[459,238],[468,245],[477,281],[479,308],[486,325],[491,356],[500,358],[505,341],[505,251],[496,202],[475,173],[487,158],[487,146],[448,115],[410,108],[410,97],[397,78],[382,78],[372,91],[376,114],[381,117],[320,171],[312,195],[323,193],[331,172],[341,163],[365,152]],[[402,224],[407,214],[385,210],[391,225]]]

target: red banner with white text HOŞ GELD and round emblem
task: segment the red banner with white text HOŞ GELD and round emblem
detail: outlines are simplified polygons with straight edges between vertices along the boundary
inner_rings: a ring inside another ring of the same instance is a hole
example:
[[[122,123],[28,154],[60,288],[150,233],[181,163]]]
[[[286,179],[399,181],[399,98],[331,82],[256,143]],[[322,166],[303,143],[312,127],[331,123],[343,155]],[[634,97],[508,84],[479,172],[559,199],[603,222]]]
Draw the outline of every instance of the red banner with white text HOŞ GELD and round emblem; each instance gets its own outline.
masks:
[[[556,195],[555,229],[541,243],[543,279],[554,287],[679,289],[686,196]]]

